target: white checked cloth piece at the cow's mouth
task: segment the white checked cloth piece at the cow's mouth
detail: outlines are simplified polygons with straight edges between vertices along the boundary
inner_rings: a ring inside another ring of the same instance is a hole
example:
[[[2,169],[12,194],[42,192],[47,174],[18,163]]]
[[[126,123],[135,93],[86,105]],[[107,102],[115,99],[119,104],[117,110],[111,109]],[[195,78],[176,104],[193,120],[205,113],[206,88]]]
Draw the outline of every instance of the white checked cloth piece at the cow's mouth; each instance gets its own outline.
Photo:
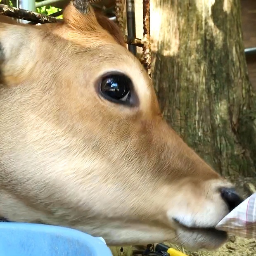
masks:
[[[256,238],[256,193],[228,213],[216,229],[238,237]]]

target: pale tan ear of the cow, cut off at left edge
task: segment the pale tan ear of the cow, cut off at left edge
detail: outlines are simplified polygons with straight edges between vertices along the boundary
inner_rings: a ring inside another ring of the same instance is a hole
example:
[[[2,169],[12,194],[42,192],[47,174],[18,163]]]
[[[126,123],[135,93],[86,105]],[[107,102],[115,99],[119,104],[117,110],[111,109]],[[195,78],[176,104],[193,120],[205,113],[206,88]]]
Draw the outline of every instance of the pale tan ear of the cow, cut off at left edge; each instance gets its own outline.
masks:
[[[0,80],[20,83],[33,69],[39,31],[0,22]],[[19,81],[17,81],[19,79]]]

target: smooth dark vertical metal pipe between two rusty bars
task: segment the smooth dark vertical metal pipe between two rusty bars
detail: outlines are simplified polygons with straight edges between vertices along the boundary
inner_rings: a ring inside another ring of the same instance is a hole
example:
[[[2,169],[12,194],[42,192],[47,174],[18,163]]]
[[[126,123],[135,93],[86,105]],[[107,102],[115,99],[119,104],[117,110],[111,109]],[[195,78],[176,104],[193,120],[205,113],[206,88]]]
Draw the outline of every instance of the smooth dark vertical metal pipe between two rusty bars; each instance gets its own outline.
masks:
[[[126,0],[126,15],[127,15],[127,34],[128,39],[133,40],[136,38],[136,26],[135,26],[135,7],[134,0]],[[135,45],[128,45],[128,49],[133,55],[137,55],[137,49]]]

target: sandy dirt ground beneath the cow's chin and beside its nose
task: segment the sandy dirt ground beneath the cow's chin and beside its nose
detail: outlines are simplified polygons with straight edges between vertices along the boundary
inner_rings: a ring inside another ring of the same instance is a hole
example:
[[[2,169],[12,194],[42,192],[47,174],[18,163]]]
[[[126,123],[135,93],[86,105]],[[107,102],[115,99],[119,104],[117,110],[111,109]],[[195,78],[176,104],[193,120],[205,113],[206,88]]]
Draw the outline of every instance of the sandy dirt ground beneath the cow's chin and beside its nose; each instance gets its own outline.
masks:
[[[251,195],[248,189],[248,183],[252,183],[256,187],[256,178],[229,178],[229,180],[236,185],[239,194],[244,199]],[[131,247],[112,247],[113,256],[132,256]],[[184,250],[183,248],[181,250]],[[184,251],[188,256],[256,256],[256,239],[244,239],[241,237],[231,236],[229,241],[219,248],[217,251],[198,251],[190,252]]]

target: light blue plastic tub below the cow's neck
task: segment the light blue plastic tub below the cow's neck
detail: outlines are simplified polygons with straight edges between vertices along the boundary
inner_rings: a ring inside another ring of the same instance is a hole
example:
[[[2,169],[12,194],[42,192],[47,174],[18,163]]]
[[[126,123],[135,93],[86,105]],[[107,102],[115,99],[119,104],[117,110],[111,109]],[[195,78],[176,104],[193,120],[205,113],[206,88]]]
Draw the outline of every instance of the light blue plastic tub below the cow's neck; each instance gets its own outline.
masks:
[[[0,256],[112,256],[97,237],[31,223],[0,223]]]

